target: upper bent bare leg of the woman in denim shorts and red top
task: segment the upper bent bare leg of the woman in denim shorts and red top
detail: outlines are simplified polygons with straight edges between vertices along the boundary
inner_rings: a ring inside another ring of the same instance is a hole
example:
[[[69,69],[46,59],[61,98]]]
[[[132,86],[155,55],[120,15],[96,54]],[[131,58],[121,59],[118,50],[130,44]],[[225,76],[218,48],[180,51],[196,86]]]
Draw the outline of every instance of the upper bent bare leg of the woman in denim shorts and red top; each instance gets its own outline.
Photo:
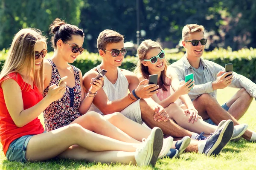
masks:
[[[139,146],[139,144],[111,139],[84,129],[81,125],[73,124],[33,136],[27,145],[26,159],[29,161],[51,159],[74,144],[91,151],[134,152]]]

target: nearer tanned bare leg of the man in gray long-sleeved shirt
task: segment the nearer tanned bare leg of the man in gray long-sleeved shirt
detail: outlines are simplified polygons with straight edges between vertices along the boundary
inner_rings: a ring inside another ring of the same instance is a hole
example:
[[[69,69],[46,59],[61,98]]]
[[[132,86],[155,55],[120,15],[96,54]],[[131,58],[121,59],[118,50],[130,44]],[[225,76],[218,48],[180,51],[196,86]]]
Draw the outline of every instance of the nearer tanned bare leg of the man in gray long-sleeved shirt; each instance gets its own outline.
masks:
[[[218,125],[221,120],[231,119],[234,122],[234,125],[239,125],[239,122],[230,115],[230,113],[221,108],[217,100],[209,94],[202,94],[199,96],[193,101],[193,105],[204,120],[210,118],[212,119],[212,122]],[[251,136],[252,131],[248,129],[242,135],[242,137],[247,140],[250,140]]]

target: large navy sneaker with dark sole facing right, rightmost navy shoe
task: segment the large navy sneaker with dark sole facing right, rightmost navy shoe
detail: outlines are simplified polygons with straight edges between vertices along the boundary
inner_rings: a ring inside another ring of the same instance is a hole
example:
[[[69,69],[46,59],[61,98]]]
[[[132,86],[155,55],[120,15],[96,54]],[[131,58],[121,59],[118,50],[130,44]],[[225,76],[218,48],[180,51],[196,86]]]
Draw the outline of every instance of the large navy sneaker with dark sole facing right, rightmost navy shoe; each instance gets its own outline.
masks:
[[[218,155],[223,147],[230,141],[234,130],[232,120],[227,120],[218,130],[212,133],[206,140],[203,153],[206,156]]]

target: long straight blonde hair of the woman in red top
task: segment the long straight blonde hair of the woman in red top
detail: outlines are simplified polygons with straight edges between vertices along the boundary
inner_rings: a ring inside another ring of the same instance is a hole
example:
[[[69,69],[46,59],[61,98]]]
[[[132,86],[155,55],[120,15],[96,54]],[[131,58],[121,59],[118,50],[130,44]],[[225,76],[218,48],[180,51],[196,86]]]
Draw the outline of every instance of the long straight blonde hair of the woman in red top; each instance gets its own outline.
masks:
[[[35,63],[34,50],[38,42],[44,42],[47,46],[46,38],[41,34],[40,30],[33,28],[20,30],[12,41],[9,55],[0,73],[0,79],[10,73],[16,72],[20,74],[22,71],[27,70],[26,77],[32,77],[32,81],[38,87],[39,91],[43,93],[43,64],[41,64],[38,70],[35,70],[35,65],[31,65],[32,61]]]

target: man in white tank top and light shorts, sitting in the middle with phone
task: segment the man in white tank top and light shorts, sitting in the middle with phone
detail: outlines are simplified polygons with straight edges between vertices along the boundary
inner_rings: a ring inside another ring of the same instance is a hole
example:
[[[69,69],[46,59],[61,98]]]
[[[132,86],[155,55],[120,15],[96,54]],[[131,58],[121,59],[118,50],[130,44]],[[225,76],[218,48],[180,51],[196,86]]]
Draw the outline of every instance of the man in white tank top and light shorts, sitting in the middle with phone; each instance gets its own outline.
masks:
[[[113,30],[102,31],[97,39],[97,47],[102,63],[84,74],[84,88],[88,91],[91,79],[96,77],[99,71],[105,69],[108,72],[105,74],[103,87],[93,99],[90,111],[97,111],[102,115],[120,112],[137,123],[145,122],[150,128],[160,127],[168,136],[178,138],[195,136],[195,133],[180,127],[169,119],[164,108],[151,99],[151,96],[157,93],[154,90],[159,87],[158,85],[148,85],[147,79],[139,82],[134,73],[119,68],[127,52],[121,34]],[[198,140],[193,140],[187,151],[206,155],[218,154],[229,142],[232,133],[233,122],[227,121],[206,140],[198,141],[204,139],[204,136],[197,135]],[[178,148],[179,142],[176,144]]]

